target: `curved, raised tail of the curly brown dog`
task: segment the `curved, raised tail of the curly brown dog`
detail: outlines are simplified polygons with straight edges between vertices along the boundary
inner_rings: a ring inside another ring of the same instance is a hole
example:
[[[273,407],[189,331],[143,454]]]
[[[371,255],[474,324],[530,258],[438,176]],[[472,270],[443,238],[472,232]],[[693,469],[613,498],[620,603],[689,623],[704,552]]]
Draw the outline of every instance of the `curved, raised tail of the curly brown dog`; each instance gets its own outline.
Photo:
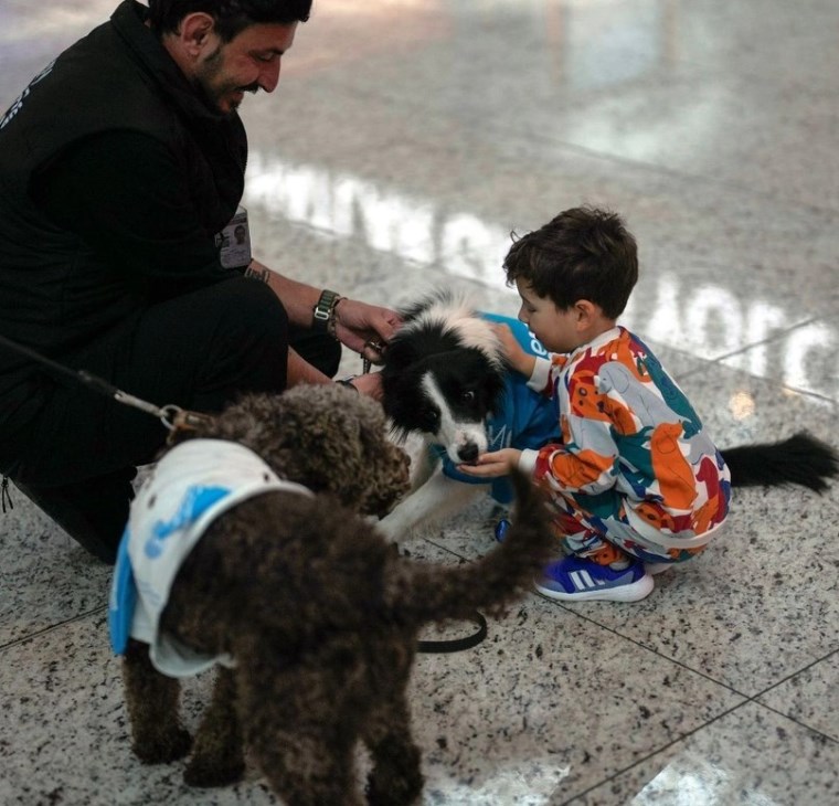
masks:
[[[480,560],[439,565],[402,559],[389,581],[394,617],[422,625],[469,618],[476,609],[498,615],[525,591],[557,553],[543,494],[522,474],[511,477],[516,516],[503,543]]]

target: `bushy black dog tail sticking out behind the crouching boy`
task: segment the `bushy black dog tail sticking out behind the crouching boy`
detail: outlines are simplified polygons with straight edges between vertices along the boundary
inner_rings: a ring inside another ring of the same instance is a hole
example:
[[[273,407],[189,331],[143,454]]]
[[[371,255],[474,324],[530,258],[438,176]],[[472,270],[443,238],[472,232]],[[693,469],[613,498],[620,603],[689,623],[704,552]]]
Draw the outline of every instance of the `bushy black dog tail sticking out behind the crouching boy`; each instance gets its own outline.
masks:
[[[722,450],[732,487],[800,485],[816,492],[839,474],[839,455],[830,445],[798,432],[788,439]]]

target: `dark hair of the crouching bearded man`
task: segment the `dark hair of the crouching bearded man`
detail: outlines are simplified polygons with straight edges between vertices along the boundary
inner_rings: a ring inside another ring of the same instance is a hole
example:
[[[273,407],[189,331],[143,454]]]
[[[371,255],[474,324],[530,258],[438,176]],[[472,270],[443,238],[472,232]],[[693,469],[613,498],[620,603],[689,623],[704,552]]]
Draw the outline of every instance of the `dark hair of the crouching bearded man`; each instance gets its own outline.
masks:
[[[226,43],[256,23],[306,22],[311,0],[149,0],[149,24],[158,36],[174,33],[181,20],[197,11],[215,20],[215,30]]]

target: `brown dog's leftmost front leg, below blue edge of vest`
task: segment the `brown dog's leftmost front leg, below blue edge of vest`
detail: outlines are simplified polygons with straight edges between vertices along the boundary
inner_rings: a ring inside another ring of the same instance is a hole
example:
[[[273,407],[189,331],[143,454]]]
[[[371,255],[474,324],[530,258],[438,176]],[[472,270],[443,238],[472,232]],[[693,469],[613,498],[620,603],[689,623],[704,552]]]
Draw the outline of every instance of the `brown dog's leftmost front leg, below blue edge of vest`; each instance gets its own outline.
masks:
[[[148,644],[128,641],[123,682],[137,757],[145,764],[161,764],[187,755],[192,740],[179,717],[180,683],[151,665]]]

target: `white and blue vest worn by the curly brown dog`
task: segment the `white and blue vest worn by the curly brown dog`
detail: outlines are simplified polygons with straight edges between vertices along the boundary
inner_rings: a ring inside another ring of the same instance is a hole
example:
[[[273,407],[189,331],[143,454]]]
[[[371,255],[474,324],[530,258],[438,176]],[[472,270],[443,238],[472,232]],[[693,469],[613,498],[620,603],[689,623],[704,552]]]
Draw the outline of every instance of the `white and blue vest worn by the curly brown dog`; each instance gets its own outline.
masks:
[[[153,666],[170,677],[189,677],[230,656],[201,655],[160,630],[181,564],[210,523],[254,496],[279,490],[312,496],[280,479],[253,450],[223,439],[191,439],[172,448],[131,502],[117,554],[108,622],[117,655],[131,636],[149,645]]]

